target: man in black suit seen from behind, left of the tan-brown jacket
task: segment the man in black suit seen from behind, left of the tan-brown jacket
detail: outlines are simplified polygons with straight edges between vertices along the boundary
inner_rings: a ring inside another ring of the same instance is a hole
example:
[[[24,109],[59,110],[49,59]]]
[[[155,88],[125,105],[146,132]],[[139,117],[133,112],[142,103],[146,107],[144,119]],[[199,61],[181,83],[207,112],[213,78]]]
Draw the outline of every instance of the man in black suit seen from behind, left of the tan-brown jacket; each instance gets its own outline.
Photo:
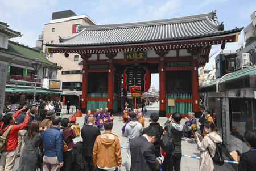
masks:
[[[84,168],[82,170],[96,170],[93,164],[93,146],[98,135],[101,134],[98,127],[94,127],[96,121],[95,117],[88,118],[88,126],[81,129],[82,136],[82,160],[84,161]]]

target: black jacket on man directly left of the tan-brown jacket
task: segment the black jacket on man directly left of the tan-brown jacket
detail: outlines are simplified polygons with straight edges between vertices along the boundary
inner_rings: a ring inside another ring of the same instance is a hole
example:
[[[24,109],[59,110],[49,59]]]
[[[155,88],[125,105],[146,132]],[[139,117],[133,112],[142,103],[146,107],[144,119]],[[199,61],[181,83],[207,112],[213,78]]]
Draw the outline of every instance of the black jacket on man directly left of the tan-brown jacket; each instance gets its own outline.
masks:
[[[92,125],[85,126],[81,129],[82,155],[86,157],[93,156],[93,146],[98,135],[101,135],[100,130]]]

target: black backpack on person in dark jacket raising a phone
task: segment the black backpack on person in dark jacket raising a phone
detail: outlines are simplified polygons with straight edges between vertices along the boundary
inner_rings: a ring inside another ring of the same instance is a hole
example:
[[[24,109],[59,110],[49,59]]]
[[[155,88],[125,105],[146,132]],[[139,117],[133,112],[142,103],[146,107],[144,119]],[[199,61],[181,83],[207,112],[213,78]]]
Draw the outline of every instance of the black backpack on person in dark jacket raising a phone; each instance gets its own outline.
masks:
[[[172,124],[168,126],[168,130],[165,134],[162,135],[162,140],[161,140],[161,148],[163,151],[166,152],[166,154],[170,155],[174,153],[174,140],[172,139],[172,134],[171,134],[171,128]]]

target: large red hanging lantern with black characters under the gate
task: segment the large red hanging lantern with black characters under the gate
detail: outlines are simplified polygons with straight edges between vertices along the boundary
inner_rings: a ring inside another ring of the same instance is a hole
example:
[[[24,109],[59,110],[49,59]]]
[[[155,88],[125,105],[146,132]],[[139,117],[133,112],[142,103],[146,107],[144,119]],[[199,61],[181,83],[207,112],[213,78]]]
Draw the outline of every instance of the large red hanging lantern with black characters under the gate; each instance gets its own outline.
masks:
[[[146,92],[150,88],[150,84],[151,74],[147,67],[132,65],[123,71],[123,87],[127,92]]]

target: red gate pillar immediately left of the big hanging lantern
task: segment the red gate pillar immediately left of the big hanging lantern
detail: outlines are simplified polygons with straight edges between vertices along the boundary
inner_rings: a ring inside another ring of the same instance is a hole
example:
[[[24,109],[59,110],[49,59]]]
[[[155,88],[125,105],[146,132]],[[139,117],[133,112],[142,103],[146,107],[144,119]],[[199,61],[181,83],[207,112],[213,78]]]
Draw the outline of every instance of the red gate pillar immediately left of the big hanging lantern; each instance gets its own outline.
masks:
[[[114,83],[114,66],[112,63],[112,60],[110,59],[108,62],[108,69],[109,69],[109,74],[108,74],[108,108],[109,112],[113,114],[113,83]]]

